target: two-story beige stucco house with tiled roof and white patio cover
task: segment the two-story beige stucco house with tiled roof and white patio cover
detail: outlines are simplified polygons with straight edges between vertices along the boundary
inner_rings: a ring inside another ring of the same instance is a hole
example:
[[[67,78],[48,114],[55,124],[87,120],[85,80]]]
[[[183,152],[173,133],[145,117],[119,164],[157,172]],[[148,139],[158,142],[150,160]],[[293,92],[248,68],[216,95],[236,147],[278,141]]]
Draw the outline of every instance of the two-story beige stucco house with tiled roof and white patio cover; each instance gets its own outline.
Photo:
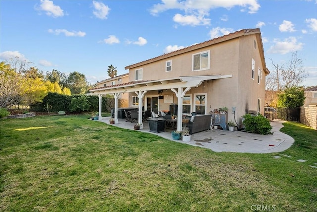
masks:
[[[236,120],[239,125],[249,110],[263,114],[269,71],[260,29],[243,29],[125,69],[129,82],[90,91],[99,96],[112,93],[116,99],[129,93],[129,106],[140,111],[142,106],[155,112],[170,110],[174,104],[180,117],[227,107],[228,120]],[[118,122],[117,117],[115,120]],[[178,119],[178,130],[181,121]]]

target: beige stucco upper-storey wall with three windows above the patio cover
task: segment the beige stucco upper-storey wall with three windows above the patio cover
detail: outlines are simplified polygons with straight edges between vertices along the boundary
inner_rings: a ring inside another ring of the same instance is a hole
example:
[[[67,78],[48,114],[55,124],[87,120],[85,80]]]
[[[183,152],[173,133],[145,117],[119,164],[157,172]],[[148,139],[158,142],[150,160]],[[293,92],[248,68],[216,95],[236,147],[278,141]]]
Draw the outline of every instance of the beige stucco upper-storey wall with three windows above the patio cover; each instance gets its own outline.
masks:
[[[135,67],[129,70],[130,81],[135,80],[135,70],[142,69],[142,80],[168,79],[179,76],[226,75],[237,68],[238,39],[226,43],[215,44],[206,48],[176,55],[171,58]],[[193,54],[209,51],[210,68],[202,71],[192,71]],[[171,60],[172,71],[166,72],[166,61]]]

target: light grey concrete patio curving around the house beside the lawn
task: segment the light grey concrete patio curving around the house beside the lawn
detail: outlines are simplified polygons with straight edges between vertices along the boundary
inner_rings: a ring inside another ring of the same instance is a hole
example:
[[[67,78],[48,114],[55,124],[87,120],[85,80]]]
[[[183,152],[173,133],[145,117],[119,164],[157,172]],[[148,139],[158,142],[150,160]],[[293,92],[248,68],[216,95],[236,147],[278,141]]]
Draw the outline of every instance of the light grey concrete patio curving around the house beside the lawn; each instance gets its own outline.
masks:
[[[102,120],[99,121],[109,124],[109,120],[110,117],[102,117]],[[273,135],[213,129],[193,134],[190,142],[173,140],[171,133],[167,131],[161,133],[149,132],[148,122],[144,122],[143,129],[139,131],[152,133],[179,143],[208,148],[215,152],[272,153],[285,151],[294,143],[292,137],[279,131],[283,127],[282,123],[278,121],[271,122]],[[119,119],[119,123],[113,126],[133,130],[134,125],[135,123]]]

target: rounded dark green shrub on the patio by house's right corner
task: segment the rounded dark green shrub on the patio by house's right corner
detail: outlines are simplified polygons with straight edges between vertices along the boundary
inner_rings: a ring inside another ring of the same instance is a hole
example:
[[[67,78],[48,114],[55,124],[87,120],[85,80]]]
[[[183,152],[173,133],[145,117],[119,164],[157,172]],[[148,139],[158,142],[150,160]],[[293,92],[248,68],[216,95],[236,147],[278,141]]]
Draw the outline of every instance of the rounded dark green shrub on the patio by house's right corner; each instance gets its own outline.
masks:
[[[271,132],[272,126],[270,124],[270,121],[261,114],[259,114],[258,116],[251,116],[250,114],[246,114],[243,116],[243,118],[245,118],[243,124],[247,132],[258,133],[262,135],[273,134]]]

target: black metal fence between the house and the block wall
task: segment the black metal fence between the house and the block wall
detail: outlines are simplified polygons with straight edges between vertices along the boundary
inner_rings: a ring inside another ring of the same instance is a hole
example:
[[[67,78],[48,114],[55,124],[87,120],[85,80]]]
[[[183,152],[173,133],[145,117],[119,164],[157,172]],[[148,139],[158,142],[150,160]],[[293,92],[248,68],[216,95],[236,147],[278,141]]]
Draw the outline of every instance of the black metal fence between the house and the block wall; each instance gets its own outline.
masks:
[[[269,120],[300,121],[301,108],[264,107],[264,116]]]

